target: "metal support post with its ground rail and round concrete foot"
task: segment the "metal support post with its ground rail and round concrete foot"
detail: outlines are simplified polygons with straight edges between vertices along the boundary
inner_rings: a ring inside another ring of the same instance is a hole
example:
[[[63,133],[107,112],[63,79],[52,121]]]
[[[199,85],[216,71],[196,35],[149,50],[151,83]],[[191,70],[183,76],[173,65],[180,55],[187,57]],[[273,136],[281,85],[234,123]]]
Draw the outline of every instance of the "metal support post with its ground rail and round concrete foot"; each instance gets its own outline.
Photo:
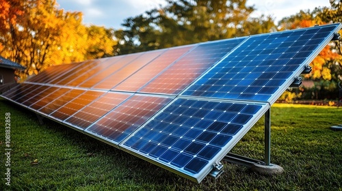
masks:
[[[252,171],[264,175],[274,175],[284,172],[284,168],[281,166],[271,164],[271,108],[265,113],[265,161],[239,156],[235,153],[228,153],[223,160],[247,166]]]

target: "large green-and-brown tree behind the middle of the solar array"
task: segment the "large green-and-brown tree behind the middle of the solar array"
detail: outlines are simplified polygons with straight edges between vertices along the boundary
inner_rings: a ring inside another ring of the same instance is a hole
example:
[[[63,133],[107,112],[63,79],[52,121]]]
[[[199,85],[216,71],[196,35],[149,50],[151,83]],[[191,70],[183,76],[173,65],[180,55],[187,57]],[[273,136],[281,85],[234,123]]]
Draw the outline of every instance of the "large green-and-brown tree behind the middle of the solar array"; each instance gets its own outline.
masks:
[[[168,0],[163,8],[127,18],[116,32],[117,48],[124,54],[274,29],[271,17],[250,18],[252,12],[246,0]]]

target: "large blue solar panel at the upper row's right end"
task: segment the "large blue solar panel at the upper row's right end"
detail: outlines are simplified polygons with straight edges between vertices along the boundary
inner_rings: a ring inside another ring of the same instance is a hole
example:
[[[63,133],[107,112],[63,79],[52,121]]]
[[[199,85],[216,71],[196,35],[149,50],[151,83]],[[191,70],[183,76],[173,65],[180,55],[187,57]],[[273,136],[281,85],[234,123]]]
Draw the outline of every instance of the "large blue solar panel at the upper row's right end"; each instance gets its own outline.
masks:
[[[280,96],[288,87],[283,85],[293,81],[314,58],[312,55],[319,53],[318,45],[330,41],[336,27],[252,36],[183,95],[270,102],[272,95],[281,89]]]

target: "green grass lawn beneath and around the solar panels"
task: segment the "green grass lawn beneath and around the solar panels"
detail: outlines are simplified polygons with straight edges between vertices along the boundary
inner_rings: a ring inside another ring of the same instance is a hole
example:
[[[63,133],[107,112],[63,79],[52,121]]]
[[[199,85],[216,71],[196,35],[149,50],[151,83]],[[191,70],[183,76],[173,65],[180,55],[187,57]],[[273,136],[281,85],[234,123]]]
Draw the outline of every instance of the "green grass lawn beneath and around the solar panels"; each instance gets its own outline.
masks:
[[[11,113],[11,186],[5,185],[5,113]],[[224,173],[195,183],[0,99],[0,190],[342,190],[342,108],[274,104],[271,162],[259,175],[224,162]],[[263,119],[233,153],[263,160]],[[34,162],[36,160],[36,162]]]

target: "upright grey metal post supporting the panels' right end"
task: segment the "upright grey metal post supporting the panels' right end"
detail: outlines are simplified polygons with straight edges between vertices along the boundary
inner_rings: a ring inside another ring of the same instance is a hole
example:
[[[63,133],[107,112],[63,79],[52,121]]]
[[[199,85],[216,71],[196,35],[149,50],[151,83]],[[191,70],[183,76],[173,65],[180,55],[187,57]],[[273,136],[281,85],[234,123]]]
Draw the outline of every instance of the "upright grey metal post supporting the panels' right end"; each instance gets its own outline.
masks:
[[[265,164],[271,164],[271,108],[265,113]]]

